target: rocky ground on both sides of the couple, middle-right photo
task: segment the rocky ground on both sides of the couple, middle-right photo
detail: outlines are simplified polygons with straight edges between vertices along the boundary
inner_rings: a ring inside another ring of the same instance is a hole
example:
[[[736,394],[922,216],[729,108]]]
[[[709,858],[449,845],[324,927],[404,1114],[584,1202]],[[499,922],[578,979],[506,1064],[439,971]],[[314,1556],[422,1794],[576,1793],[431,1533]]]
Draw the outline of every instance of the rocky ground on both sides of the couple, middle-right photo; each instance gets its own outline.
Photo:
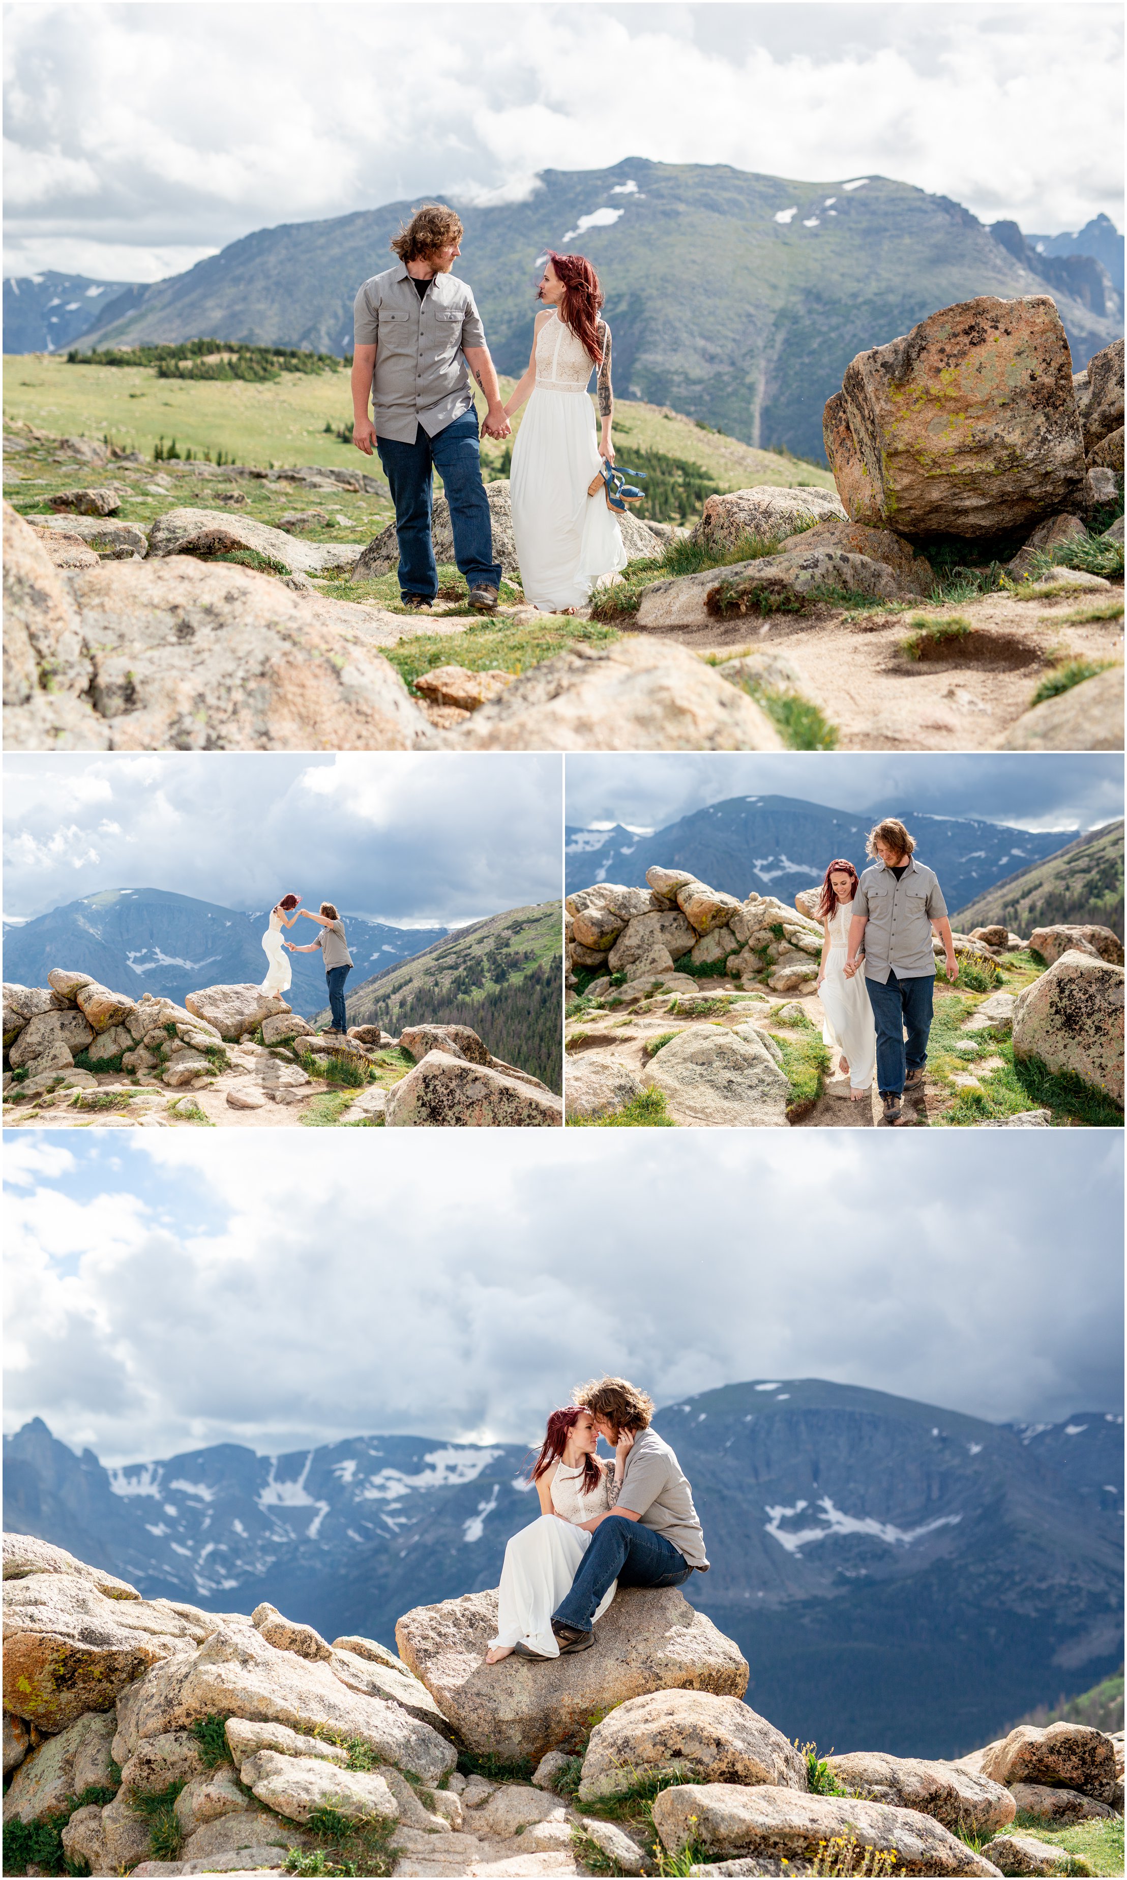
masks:
[[[687,869],[650,867],[646,882],[599,882],[564,902],[577,995],[564,1030],[569,1120],[612,1117],[656,1090],[682,1126],[785,1128],[808,1119],[826,1081],[834,1098],[847,1098],[821,1036],[819,891],[800,889],[787,906],[755,891],[740,901]],[[934,951],[939,966],[937,938]],[[952,1073],[954,1087],[980,1089],[979,1062],[982,1072],[1001,1064],[990,1040],[1009,1036],[1016,1058],[1067,1072],[1121,1105],[1123,946],[1110,929],[1042,927],[1024,940],[979,927],[954,934],[954,951],[988,995],[962,1017],[954,1051],[965,1068]],[[996,985],[994,963],[1012,953],[1044,968],[1018,993]],[[847,1115],[838,1105],[834,1120]],[[1014,1120],[1037,1128],[1048,1111]]]

